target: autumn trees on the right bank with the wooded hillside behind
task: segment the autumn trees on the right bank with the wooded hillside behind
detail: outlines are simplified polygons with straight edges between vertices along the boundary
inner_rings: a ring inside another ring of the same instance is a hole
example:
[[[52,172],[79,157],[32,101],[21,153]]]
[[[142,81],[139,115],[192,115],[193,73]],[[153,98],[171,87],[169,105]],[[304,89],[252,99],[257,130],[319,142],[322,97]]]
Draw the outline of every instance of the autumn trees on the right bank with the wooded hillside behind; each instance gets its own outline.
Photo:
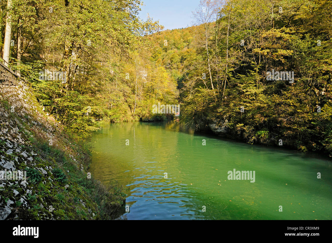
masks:
[[[197,26],[154,35],[159,49],[152,58],[177,80],[182,120],[198,130],[225,123],[227,137],[248,143],[282,139],[293,149],[332,155],[332,25],[324,14],[332,1],[216,3],[201,1],[219,11],[208,27],[198,11]],[[294,83],[267,80],[273,69],[294,72]]]

